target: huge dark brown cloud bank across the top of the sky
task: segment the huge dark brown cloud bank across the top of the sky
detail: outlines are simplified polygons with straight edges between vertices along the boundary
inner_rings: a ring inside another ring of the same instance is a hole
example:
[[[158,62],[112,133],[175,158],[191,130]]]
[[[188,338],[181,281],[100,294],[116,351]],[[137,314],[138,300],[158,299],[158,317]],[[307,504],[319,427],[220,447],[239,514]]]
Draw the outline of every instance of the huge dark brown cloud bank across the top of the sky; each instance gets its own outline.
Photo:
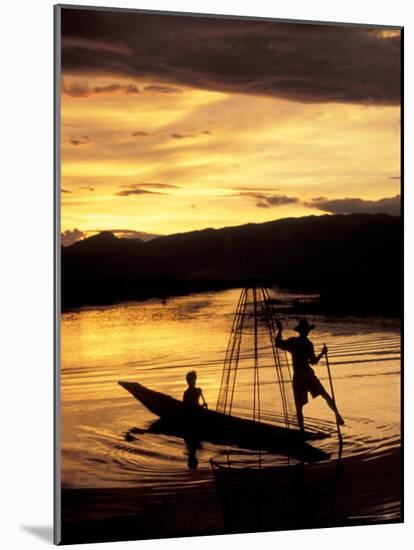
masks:
[[[111,45],[109,48],[108,45]],[[400,102],[400,33],[380,28],[62,9],[62,69],[293,101]],[[168,90],[168,92],[167,92]],[[71,95],[88,94],[73,86]]]

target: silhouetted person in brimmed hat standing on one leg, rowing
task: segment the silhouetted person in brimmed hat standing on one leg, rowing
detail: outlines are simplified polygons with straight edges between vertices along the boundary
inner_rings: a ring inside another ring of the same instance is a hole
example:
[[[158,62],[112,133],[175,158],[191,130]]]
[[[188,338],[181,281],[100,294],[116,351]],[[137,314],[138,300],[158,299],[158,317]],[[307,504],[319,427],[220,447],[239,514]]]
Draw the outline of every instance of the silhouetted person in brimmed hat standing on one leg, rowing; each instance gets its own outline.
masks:
[[[278,329],[276,347],[284,349],[292,355],[293,394],[301,431],[305,429],[302,408],[308,402],[308,392],[313,398],[318,395],[322,396],[335,413],[338,424],[345,424],[331,396],[325,390],[310,366],[317,365],[321,358],[328,353],[328,348],[324,344],[321,353],[315,355],[313,344],[308,338],[309,332],[315,328],[315,325],[310,325],[306,319],[301,319],[298,325],[293,329],[299,333],[299,336],[293,336],[287,340],[283,340],[282,338],[283,327],[279,320],[276,321],[276,326]]]

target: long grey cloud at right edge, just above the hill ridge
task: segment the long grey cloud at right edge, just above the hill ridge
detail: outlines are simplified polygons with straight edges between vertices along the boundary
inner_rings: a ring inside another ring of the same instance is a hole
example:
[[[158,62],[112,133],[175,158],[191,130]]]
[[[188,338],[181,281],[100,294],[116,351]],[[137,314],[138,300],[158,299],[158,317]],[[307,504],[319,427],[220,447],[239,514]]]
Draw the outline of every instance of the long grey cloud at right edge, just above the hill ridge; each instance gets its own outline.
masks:
[[[399,216],[401,214],[400,195],[379,199],[376,201],[360,198],[327,199],[326,197],[315,197],[305,206],[317,208],[331,214],[390,214]]]

